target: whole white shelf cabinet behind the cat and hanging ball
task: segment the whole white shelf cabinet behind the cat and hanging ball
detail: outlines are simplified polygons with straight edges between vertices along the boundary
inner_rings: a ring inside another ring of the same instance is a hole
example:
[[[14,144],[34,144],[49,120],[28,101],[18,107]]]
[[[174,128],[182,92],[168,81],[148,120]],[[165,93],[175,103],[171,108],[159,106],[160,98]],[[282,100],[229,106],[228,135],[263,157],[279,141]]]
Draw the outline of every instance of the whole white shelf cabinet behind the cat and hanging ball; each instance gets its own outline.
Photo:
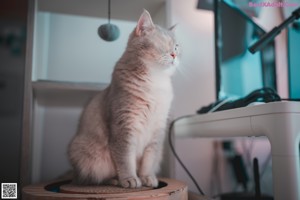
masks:
[[[32,0],[24,104],[22,176],[48,181],[70,169],[67,146],[87,101],[110,82],[114,65],[143,11],[167,24],[166,0],[112,0],[111,23],[120,38],[106,42],[97,29],[107,23],[107,0]],[[29,118],[27,119],[26,116]],[[27,171],[25,169],[28,169]]]

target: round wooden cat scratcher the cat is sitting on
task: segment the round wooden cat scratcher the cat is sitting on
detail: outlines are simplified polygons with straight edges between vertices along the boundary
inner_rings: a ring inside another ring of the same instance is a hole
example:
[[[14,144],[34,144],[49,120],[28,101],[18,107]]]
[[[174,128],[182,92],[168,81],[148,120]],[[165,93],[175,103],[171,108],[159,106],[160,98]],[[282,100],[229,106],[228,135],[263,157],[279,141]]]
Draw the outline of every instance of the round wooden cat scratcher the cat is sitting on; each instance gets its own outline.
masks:
[[[186,184],[167,178],[159,179],[157,188],[126,189],[117,186],[77,186],[69,180],[57,180],[47,184],[29,185],[23,188],[22,199],[71,200],[71,199],[170,199],[187,200]]]

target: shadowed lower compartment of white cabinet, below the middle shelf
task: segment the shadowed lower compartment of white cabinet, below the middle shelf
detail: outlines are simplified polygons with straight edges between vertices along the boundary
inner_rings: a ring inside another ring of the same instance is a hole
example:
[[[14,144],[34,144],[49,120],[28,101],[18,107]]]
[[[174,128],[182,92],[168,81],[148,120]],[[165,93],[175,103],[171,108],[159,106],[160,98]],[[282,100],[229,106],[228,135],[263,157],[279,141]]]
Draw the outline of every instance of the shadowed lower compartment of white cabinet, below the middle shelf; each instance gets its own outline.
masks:
[[[50,181],[71,169],[67,146],[82,108],[95,91],[35,91],[32,182]]]

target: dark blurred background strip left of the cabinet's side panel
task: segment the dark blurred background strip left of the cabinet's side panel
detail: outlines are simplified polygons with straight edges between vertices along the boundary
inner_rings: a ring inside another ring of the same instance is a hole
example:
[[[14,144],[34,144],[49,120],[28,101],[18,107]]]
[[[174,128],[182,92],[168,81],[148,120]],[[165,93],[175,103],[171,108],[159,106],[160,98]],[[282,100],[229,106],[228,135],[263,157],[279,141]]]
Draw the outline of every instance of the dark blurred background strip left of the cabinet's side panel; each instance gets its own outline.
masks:
[[[0,182],[19,183],[27,0],[0,3]]]

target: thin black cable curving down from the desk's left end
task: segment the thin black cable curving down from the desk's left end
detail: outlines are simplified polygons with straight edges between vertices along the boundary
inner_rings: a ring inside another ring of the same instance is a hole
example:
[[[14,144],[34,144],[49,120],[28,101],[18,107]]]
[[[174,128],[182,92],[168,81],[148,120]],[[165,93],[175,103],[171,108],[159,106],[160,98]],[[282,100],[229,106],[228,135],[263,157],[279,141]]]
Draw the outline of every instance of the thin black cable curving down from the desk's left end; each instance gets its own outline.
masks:
[[[187,167],[183,164],[183,162],[181,161],[181,159],[179,158],[178,154],[176,153],[175,151],[175,148],[174,148],[174,145],[172,143],[172,129],[173,129],[173,126],[175,124],[175,122],[177,122],[178,120],[180,119],[184,119],[184,118],[188,118],[188,117],[192,117],[194,115],[187,115],[187,116],[182,116],[182,117],[179,117],[175,120],[173,120],[169,126],[169,145],[170,145],[170,148],[171,148],[171,151],[174,155],[174,157],[176,158],[176,160],[179,162],[179,164],[181,165],[181,167],[184,169],[184,171],[187,173],[187,175],[189,176],[189,178],[193,181],[194,185],[196,186],[197,190],[199,191],[199,193],[201,195],[205,195],[204,192],[202,191],[202,189],[200,188],[199,184],[197,183],[197,181],[195,180],[195,178],[193,177],[193,175],[190,173],[190,171],[187,169]]]

